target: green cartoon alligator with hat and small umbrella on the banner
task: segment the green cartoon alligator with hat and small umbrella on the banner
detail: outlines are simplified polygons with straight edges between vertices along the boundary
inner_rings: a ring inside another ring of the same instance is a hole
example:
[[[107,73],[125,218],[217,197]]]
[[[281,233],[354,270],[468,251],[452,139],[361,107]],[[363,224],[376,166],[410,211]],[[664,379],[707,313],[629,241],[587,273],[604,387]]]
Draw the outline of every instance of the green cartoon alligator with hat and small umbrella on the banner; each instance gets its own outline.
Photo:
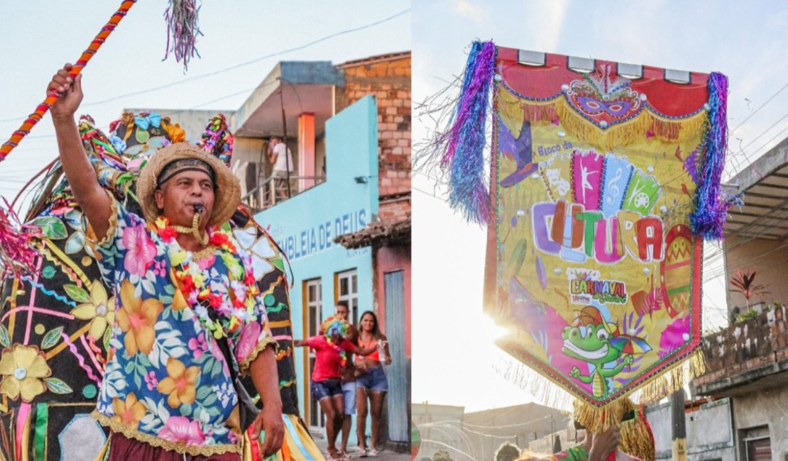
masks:
[[[573,359],[592,363],[594,370],[586,376],[578,367],[572,367],[569,372],[572,378],[580,382],[593,383],[593,396],[605,398],[612,389],[608,389],[608,378],[619,374],[624,367],[630,366],[634,359],[632,354],[626,354],[623,362],[613,368],[603,368],[605,363],[618,360],[623,355],[623,348],[614,344],[614,338],[619,337],[619,327],[615,323],[608,323],[602,318],[599,309],[585,306],[575,319],[575,326],[563,329],[562,352]]]

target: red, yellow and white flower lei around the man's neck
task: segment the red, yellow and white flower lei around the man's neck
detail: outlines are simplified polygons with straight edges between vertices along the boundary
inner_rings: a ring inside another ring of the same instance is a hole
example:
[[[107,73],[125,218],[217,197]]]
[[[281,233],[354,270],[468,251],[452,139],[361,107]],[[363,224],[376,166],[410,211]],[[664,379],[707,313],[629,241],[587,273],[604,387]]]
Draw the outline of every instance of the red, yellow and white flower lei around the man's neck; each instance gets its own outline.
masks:
[[[155,226],[162,240],[170,244],[177,242],[175,238],[178,231],[169,225],[169,219],[159,217]],[[180,245],[173,245],[169,252],[169,263],[173,282],[183,294],[186,303],[194,310],[199,322],[219,339],[236,331],[243,323],[257,319],[255,298],[260,291],[255,283],[251,256],[241,256],[229,234],[216,227],[209,227],[206,237],[209,245],[206,248],[207,254],[204,253],[206,250],[191,253],[181,249]],[[225,297],[211,293],[210,282],[203,275],[203,267],[212,266],[216,257],[220,257],[227,267],[230,280],[229,302]],[[209,309],[229,318],[226,330],[219,319],[211,319]]]

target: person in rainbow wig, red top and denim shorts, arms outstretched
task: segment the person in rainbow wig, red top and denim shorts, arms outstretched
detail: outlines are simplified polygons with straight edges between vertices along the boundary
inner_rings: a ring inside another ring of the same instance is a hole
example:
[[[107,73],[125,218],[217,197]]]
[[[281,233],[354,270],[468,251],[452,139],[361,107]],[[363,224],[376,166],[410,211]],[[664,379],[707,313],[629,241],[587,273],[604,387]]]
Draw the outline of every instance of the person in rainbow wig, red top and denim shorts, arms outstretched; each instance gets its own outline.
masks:
[[[348,322],[329,317],[320,326],[325,334],[293,341],[296,347],[314,349],[315,360],[312,371],[312,395],[318,400],[325,414],[325,435],[329,443],[329,461],[342,459],[336,450],[336,435],[344,418],[344,398],[340,370],[348,360],[348,352],[363,356],[375,348],[359,348],[348,341]]]

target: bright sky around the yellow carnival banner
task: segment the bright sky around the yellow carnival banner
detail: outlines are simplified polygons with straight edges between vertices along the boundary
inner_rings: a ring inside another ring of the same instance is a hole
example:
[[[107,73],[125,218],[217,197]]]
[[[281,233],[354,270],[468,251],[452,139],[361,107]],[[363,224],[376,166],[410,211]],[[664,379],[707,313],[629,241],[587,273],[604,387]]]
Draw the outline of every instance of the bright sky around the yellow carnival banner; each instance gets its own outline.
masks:
[[[446,87],[462,72],[474,39],[523,50],[723,72],[730,78],[730,128],[788,84],[785,2],[435,0],[414,2],[413,8],[414,101]],[[744,146],[745,154],[730,158],[729,174],[788,135],[786,106],[788,89],[732,132],[730,147]],[[414,143],[428,128],[414,122]],[[485,230],[463,223],[444,203],[445,190],[436,190],[424,175],[414,174],[413,185],[414,401],[465,405],[471,411],[529,401],[529,395],[490,366],[500,352],[492,346],[496,329],[481,314]],[[720,273],[719,249],[709,246],[705,253],[710,262],[704,267],[704,324],[716,327],[726,322],[726,287],[723,278],[712,277]]]

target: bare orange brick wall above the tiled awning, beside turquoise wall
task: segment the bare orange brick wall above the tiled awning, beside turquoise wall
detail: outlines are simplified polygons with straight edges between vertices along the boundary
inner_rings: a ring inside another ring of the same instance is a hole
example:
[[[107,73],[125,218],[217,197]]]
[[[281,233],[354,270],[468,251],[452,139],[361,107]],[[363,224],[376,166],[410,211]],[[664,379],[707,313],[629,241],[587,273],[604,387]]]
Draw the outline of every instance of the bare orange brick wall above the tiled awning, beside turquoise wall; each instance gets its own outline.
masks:
[[[337,112],[367,94],[377,98],[381,219],[406,216],[411,211],[409,197],[387,198],[411,193],[411,53],[370,57],[337,67],[345,72],[345,87],[336,94]]]

